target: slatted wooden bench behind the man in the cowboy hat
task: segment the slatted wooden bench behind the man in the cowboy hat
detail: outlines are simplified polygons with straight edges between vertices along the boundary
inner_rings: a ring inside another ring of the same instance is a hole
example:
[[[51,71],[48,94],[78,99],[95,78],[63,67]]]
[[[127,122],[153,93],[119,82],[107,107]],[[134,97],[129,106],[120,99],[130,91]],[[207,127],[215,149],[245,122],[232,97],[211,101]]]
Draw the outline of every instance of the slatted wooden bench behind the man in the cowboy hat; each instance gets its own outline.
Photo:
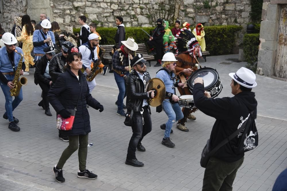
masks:
[[[137,44],[138,49],[135,51],[136,54],[140,53],[144,56],[144,59],[148,61],[148,64],[150,65],[150,61],[154,60],[154,56],[148,55],[148,50],[146,48],[146,45],[144,43]],[[104,48],[106,50],[106,54],[104,55],[104,58],[108,59],[109,63],[113,63],[113,58],[110,55],[110,52],[112,51],[112,48],[114,45],[100,45],[101,48]],[[151,65],[150,65],[151,66]]]

